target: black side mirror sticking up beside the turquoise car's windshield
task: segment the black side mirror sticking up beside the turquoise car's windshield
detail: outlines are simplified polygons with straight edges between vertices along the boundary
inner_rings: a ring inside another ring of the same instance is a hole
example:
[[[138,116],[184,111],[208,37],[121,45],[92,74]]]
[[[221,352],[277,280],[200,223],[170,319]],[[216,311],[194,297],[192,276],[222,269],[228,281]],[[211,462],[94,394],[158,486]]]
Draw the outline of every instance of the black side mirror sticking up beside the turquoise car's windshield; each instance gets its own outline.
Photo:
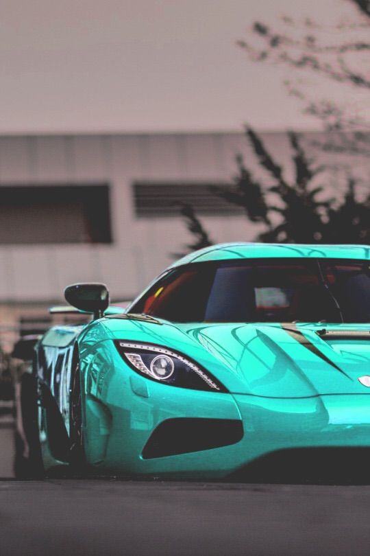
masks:
[[[80,311],[93,313],[94,318],[103,316],[109,305],[109,292],[103,283],[73,283],[64,290],[64,297]]]

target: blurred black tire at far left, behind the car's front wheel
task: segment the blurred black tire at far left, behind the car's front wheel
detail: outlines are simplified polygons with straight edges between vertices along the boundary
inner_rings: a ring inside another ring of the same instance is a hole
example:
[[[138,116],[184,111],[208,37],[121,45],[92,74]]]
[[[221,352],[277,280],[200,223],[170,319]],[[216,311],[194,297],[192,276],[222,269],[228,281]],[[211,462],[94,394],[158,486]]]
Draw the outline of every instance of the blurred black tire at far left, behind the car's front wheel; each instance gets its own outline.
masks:
[[[36,377],[23,373],[18,410],[21,410],[23,431],[16,431],[14,474],[16,478],[40,479],[45,477],[38,430],[38,393]],[[28,454],[25,454],[26,445]]]

